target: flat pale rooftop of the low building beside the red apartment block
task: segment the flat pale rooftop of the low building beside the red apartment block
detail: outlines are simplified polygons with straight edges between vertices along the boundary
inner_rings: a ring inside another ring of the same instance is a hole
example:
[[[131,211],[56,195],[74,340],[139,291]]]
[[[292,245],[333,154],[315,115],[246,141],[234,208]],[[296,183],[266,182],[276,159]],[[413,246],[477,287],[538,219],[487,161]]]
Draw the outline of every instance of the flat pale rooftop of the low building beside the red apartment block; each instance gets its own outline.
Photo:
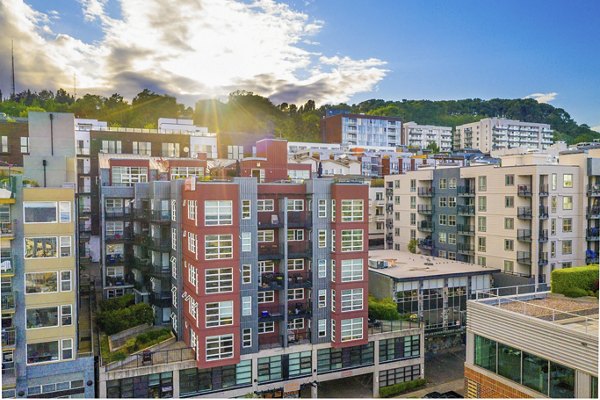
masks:
[[[387,265],[387,268],[375,268],[375,265]],[[416,280],[446,275],[491,274],[500,272],[500,269],[446,258],[412,254],[406,251],[371,250],[369,251],[369,271],[395,279]]]

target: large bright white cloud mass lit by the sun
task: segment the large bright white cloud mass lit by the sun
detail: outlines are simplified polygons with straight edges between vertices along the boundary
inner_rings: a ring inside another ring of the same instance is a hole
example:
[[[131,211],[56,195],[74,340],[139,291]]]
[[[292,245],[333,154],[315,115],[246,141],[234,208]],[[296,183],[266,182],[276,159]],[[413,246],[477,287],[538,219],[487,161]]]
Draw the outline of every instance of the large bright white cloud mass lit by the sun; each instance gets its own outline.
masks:
[[[19,88],[70,88],[76,74],[79,93],[132,98],[148,87],[189,104],[245,89],[323,104],[370,91],[388,73],[380,59],[323,54],[314,39],[325,22],[274,0],[119,1],[112,18],[108,0],[78,0],[85,20],[100,22],[94,43],[57,34],[52,13],[0,1],[0,48],[10,49],[10,37],[18,43]],[[7,62],[0,58],[0,82]]]

